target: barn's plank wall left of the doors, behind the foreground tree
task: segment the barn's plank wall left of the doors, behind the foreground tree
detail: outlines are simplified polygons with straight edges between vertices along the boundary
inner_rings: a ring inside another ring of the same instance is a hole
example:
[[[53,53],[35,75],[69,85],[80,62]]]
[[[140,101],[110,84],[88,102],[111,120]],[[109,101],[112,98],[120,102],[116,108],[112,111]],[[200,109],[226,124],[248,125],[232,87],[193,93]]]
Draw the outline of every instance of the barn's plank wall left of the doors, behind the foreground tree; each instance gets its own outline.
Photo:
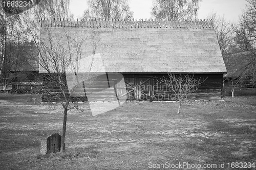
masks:
[[[79,75],[78,75],[79,77]],[[72,102],[74,101],[117,101],[117,96],[115,92],[114,85],[120,81],[119,77],[115,74],[108,74],[108,78],[106,75],[97,75],[91,76],[92,80],[86,81],[84,83],[80,83],[74,86],[73,90],[69,92],[68,84],[66,80],[66,76],[63,76],[63,82],[65,82],[65,94],[69,97]],[[56,83],[51,82],[51,79],[45,75],[44,76],[43,88],[46,91],[46,95],[43,98],[44,102],[48,101],[58,101],[58,98],[62,98],[60,92],[60,87]],[[81,80],[80,80],[81,81]],[[85,87],[85,88],[84,88]],[[125,88],[119,88],[120,92],[125,92]],[[126,98],[125,98],[126,99]]]

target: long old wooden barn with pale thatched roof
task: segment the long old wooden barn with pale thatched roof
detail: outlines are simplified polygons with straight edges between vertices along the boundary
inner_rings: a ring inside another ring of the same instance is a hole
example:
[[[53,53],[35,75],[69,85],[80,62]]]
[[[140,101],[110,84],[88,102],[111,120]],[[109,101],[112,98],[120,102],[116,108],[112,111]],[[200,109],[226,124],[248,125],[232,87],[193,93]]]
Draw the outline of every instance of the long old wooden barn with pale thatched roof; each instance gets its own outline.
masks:
[[[41,20],[41,40],[48,42],[49,34],[58,43],[67,45],[68,37],[69,42],[73,39],[88,44],[81,49],[82,57],[92,55],[92,44],[96,44],[95,54],[100,55],[104,67],[99,72],[121,74],[126,88],[124,97],[128,100],[174,100],[173,92],[159,83],[168,72],[204,80],[191,99],[222,98],[226,67],[209,21]],[[70,45],[76,47],[75,43]],[[111,78],[110,82],[116,79]],[[111,99],[106,93],[95,97],[95,100]]]

